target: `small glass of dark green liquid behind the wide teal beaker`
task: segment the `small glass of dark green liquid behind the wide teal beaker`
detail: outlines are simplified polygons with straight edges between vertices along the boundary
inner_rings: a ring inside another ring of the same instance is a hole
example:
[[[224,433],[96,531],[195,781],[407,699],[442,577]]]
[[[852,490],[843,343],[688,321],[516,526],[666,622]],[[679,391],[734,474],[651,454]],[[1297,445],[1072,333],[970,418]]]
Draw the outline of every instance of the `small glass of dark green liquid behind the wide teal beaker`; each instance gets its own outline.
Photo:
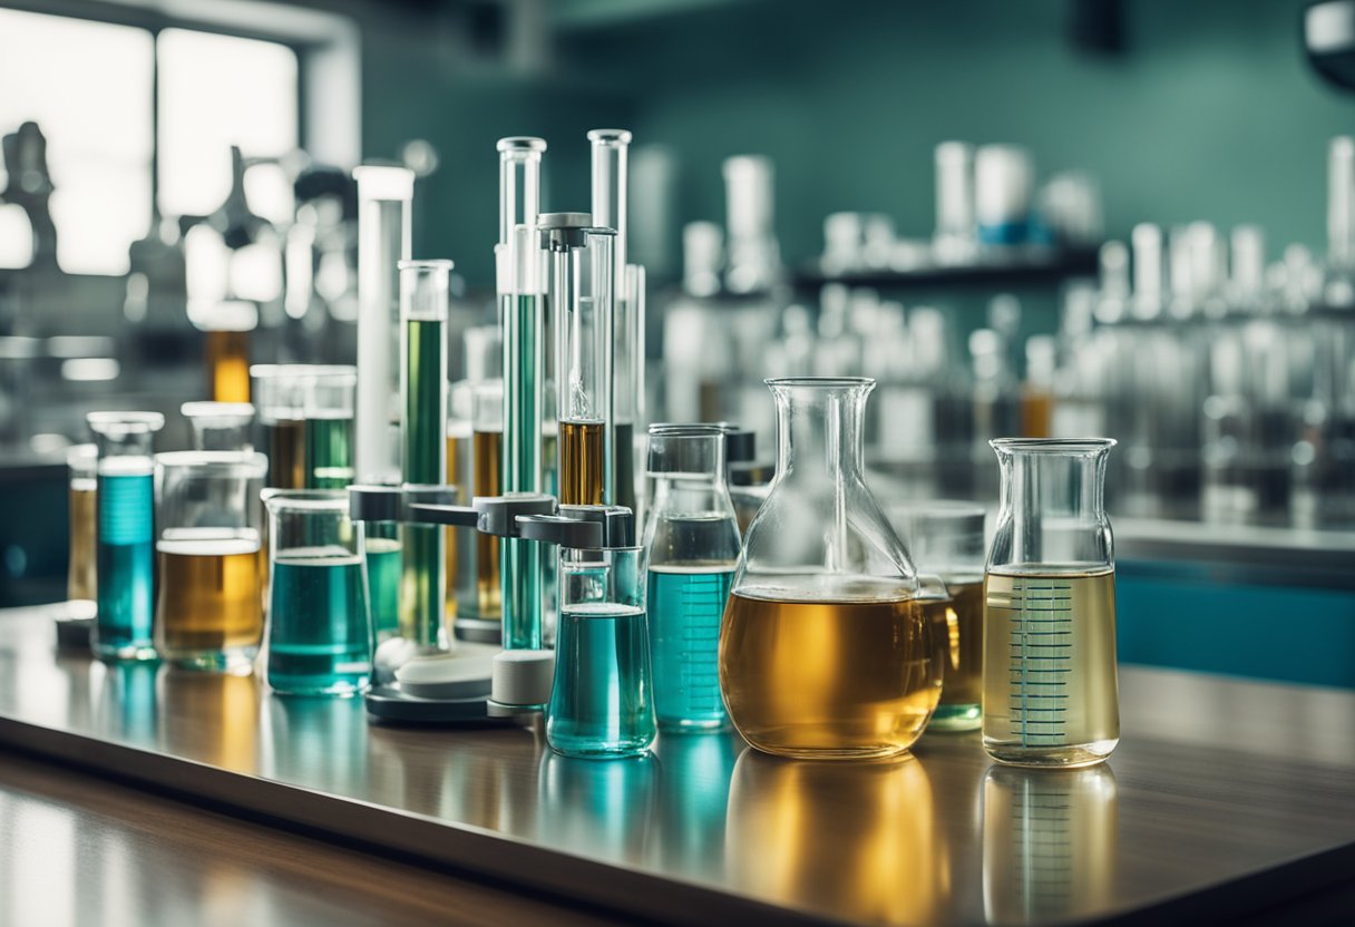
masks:
[[[354,400],[358,369],[310,365],[301,371],[306,489],[343,489],[354,481]]]

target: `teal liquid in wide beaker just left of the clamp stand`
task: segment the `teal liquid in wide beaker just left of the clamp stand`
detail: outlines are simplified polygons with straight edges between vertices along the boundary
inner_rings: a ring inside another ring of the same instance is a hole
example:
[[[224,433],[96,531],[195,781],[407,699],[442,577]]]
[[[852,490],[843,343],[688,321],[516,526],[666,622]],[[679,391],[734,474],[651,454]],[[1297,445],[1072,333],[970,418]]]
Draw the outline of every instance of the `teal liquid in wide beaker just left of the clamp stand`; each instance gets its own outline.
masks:
[[[360,557],[341,548],[278,557],[268,615],[274,690],[344,695],[367,687],[373,634]]]

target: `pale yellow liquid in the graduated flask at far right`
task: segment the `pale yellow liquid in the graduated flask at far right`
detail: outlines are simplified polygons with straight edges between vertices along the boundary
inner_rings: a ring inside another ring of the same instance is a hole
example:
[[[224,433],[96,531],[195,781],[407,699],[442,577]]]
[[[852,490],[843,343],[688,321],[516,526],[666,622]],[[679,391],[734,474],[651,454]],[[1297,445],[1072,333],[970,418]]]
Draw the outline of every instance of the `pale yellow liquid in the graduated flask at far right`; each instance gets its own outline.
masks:
[[[984,748],[1018,766],[1099,763],[1119,743],[1115,571],[1035,569],[984,579]]]

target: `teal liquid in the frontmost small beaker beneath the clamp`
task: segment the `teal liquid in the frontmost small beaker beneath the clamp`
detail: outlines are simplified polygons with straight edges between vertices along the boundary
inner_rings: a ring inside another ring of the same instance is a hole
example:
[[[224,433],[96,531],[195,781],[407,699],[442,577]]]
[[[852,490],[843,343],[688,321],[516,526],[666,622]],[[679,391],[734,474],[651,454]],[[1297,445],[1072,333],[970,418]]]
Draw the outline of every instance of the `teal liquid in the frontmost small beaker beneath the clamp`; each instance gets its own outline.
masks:
[[[546,739],[568,756],[633,756],[654,739],[645,610],[607,602],[561,611]],[[561,665],[575,672],[560,672]]]

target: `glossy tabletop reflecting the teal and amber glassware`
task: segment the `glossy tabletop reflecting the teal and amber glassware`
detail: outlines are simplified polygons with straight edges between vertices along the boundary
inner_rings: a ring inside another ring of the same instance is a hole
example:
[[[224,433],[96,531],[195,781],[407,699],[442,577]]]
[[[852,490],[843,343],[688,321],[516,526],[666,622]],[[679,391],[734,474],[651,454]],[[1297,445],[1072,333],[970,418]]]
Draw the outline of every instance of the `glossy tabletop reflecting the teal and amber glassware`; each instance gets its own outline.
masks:
[[[641,760],[530,729],[366,724],[253,678],[107,667],[0,613],[0,743],[266,821],[661,922],[1241,918],[1355,873],[1355,694],[1122,668],[1123,740],[1083,771],[993,768],[976,735],[892,763],[733,736]]]

